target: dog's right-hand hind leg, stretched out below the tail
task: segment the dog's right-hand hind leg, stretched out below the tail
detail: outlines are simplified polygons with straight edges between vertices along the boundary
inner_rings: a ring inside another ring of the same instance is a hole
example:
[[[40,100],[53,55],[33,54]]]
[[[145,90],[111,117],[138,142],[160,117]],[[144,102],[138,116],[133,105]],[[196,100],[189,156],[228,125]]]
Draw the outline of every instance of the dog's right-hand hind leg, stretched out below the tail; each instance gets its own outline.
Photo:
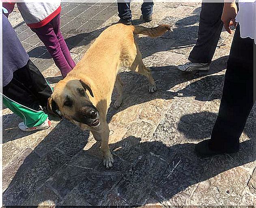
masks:
[[[151,93],[155,92],[157,90],[157,86],[155,84],[155,80],[154,80],[154,78],[151,75],[150,69],[145,67],[145,65],[144,65],[144,63],[142,61],[142,56],[141,56],[141,53],[140,53],[140,50],[139,50],[137,44],[136,44],[136,49],[137,49],[137,55],[136,55],[132,65],[131,65],[130,69],[132,71],[137,72],[138,74],[144,75],[148,79],[148,82],[150,84],[149,92],[151,92]]]

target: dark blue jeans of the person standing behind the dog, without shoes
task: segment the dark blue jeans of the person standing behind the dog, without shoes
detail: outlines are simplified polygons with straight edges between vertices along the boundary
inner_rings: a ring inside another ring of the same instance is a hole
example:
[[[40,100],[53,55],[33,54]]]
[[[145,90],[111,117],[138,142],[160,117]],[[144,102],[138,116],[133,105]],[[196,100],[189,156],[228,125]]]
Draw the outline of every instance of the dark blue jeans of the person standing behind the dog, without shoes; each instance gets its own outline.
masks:
[[[131,20],[130,0],[127,2],[117,2],[118,16],[120,19]],[[141,5],[141,13],[143,17],[148,17],[153,13],[153,1],[144,2]]]

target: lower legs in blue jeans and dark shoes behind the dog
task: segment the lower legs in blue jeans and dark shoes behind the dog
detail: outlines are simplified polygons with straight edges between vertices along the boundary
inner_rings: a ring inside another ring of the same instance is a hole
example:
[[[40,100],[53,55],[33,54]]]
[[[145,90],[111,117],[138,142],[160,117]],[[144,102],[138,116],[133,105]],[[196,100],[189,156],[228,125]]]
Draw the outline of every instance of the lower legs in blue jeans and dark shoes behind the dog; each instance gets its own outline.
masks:
[[[118,17],[120,17],[119,23],[123,23],[125,25],[132,25],[130,2],[131,0],[122,0],[117,2]],[[153,0],[143,2],[143,4],[141,5],[140,10],[142,13],[142,18],[145,22],[150,22],[152,20],[153,6]]]

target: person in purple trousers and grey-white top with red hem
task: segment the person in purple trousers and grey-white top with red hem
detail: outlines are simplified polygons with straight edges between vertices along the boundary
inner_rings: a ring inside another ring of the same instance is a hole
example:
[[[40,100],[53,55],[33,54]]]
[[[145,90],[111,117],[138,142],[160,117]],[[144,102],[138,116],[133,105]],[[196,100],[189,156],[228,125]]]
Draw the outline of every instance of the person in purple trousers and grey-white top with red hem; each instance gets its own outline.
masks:
[[[75,62],[60,32],[60,2],[60,0],[51,3],[17,2],[17,7],[28,27],[45,44],[62,77],[65,78],[75,67]],[[3,6],[12,11],[10,4],[13,7],[15,5],[15,3],[3,3]]]

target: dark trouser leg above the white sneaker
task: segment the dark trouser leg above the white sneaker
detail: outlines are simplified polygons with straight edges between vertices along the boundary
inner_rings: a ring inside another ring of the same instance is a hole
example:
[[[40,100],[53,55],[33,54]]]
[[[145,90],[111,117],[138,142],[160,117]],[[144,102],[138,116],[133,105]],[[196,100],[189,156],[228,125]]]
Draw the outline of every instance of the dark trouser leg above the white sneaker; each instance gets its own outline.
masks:
[[[189,61],[194,63],[211,63],[219,36],[222,32],[221,20],[224,3],[204,1],[200,13],[198,40],[189,54]]]

